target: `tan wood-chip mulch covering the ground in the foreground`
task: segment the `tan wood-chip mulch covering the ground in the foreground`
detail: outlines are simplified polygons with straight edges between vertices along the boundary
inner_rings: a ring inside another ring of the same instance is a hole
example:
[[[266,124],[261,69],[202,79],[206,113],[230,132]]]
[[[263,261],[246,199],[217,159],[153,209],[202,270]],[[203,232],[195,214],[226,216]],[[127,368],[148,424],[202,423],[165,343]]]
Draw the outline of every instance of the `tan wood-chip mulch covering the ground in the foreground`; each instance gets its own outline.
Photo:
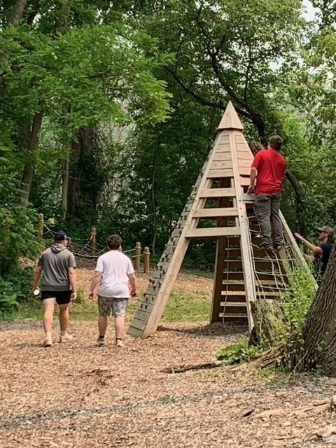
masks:
[[[336,446],[335,435],[302,442],[331,425],[332,412],[290,413],[333,395],[335,380],[266,381],[222,367],[160,372],[214,359],[246,328],[169,323],[145,340],[127,336],[118,350],[111,323],[104,347],[95,346],[94,322],[72,322],[70,331],[73,341],[43,349],[40,322],[0,323],[0,447]],[[244,416],[272,408],[288,412]]]

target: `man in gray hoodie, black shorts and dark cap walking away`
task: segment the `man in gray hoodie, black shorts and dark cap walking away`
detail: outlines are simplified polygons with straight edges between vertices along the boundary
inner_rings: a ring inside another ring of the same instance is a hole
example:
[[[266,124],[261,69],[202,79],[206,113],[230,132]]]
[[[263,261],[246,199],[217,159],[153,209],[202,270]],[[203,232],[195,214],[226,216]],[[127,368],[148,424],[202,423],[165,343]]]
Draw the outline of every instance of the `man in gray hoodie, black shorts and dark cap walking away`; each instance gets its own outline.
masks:
[[[43,346],[52,345],[52,318],[55,304],[59,307],[59,342],[72,339],[66,330],[69,323],[69,303],[76,300],[76,261],[67,248],[69,239],[62,231],[56,232],[54,244],[43,251],[34,272],[33,293],[38,287],[41,273],[41,300],[43,302]]]

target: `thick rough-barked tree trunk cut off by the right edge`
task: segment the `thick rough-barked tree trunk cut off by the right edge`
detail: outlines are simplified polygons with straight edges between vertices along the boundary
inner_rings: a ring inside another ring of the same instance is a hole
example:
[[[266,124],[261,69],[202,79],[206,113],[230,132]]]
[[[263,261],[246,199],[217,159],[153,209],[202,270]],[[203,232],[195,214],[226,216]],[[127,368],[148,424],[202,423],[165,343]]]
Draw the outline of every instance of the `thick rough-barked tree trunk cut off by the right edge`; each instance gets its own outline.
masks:
[[[304,369],[321,365],[325,374],[336,376],[336,246],[303,328]]]

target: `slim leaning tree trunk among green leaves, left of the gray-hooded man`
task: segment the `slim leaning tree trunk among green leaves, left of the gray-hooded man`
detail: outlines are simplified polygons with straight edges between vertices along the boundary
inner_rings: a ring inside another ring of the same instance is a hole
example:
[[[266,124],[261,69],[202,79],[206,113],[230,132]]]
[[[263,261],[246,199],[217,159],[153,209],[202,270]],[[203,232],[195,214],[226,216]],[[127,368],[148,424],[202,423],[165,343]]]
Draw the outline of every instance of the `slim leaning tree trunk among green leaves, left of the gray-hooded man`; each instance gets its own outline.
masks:
[[[43,119],[43,112],[38,112],[34,115],[33,123],[31,125],[31,132],[29,135],[29,144],[28,144],[28,153],[29,160],[25,163],[25,167],[23,169],[22,174],[22,186],[21,186],[21,197],[20,203],[23,207],[27,207],[29,202],[29,193],[31,189],[31,181],[33,180],[34,175],[34,163],[32,160],[32,155],[38,148],[38,133],[41,130]]]

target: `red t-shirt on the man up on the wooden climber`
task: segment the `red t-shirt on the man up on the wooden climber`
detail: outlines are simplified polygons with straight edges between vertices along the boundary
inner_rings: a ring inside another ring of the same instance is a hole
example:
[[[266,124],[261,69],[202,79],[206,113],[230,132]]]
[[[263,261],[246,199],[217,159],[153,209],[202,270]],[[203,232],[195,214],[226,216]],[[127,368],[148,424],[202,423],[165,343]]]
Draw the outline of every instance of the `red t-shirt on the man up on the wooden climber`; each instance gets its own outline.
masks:
[[[255,154],[252,167],[257,169],[256,195],[281,193],[286,172],[286,161],[274,149],[263,149]]]

